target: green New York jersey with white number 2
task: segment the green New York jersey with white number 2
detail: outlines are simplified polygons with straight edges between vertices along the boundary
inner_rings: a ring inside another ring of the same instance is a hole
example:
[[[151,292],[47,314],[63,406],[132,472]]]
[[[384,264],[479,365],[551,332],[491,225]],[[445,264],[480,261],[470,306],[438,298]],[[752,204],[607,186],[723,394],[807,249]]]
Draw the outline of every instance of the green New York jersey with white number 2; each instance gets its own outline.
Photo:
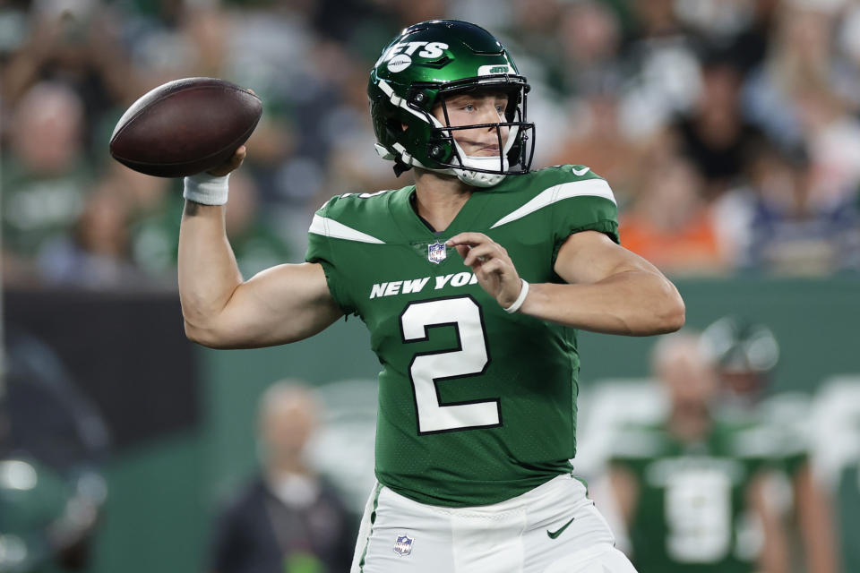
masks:
[[[579,357],[576,333],[508,314],[444,243],[488,235],[529,282],[554,270],[572,233],[616,242],[615,199],[587,167],[508,176],[476,190],[434,233],[413,209],[415,186],[332,198],[310,228],[307,261],[371,333],[379,374],[376,476],[413,500],[463,507],[510,499],[571,471]]]

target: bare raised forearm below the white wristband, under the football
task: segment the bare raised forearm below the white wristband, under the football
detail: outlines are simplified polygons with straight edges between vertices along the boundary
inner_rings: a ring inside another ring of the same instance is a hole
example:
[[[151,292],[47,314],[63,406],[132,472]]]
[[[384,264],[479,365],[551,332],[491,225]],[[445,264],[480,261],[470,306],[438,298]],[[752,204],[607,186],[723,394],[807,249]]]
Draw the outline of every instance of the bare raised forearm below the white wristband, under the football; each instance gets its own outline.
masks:
[[[179,230],[179,299],[188,338],[204,341],[242,275],[224,227],[225,207],[185,201]]]

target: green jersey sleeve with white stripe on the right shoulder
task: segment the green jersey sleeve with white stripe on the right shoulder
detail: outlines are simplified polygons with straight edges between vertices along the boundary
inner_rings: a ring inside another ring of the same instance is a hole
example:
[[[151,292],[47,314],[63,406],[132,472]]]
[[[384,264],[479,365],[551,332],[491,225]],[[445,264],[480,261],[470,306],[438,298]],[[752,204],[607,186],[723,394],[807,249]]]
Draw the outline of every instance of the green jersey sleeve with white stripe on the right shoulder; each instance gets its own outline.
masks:
[[[598,231],[620,243],[618,207],[606,179],[580,166],[555,167],[554,175],[553,261],[567,237],[581,231]]]

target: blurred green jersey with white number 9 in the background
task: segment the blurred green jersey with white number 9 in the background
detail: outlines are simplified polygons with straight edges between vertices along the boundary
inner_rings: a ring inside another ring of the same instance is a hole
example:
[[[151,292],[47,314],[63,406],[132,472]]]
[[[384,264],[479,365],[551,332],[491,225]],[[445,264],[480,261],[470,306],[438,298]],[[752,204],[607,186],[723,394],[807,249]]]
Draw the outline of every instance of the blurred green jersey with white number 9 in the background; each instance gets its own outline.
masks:
[[[761,548],[747,488],[770,467],[766,428],[715,421],[694,443],[662,424],[632,425],[611,463],[629,470],[639,495],[629,526],[639,573],[751,573]]]

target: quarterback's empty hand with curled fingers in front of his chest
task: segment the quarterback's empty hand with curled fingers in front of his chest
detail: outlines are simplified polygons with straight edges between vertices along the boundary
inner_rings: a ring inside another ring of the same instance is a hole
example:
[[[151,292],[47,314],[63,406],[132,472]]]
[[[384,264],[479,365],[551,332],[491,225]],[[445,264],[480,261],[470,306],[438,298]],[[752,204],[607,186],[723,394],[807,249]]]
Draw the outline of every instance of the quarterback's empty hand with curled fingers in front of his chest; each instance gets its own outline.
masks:
[[[505,248],[482,233],[460,233],[445,243],[457,249],[463,264],[471,267],[477,284],[502,308],[508,308],[520,295],[520,274]]]

